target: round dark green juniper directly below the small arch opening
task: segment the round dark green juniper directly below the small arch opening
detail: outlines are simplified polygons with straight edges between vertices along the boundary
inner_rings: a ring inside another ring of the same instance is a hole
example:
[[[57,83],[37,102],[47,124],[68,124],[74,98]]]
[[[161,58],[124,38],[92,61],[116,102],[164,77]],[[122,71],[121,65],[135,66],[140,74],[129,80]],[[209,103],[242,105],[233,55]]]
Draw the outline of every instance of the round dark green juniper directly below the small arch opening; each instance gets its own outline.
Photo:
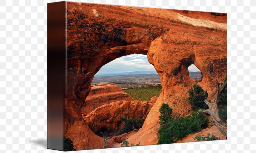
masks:
[[[208,106],[204,103],[204,99],[207,99],[207,97],[207,91],[204,91],[198,84],[194,84],[189,90],[189,103],[193,110],[198,108],[207,109]]]

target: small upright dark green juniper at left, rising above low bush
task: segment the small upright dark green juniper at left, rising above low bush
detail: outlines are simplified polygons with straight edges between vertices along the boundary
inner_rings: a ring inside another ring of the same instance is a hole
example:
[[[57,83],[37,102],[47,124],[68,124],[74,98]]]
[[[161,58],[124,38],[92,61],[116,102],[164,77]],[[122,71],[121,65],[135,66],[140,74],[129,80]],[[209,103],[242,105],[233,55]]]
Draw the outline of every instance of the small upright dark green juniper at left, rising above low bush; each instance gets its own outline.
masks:
[[[172,116],[172,108],[169,107],[168,104],[163,103],[159,109],[160,111],[160,125],[167,125],[168,121],[171,119]]]

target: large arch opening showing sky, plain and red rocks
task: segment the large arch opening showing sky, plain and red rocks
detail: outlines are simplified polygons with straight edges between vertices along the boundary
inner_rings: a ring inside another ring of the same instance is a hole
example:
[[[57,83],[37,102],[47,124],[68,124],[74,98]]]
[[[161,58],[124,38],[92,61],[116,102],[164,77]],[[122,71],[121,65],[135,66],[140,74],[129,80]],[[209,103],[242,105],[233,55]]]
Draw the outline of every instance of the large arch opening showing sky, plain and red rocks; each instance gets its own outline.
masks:
[[[122,56],[102,66],[94,75],[81,113],[96,135],[101,136],[102,132],[105,136],[117,136],[126,126],[125,121],[143,125],[141,121],[145,121],[155,104],[155,96],[161,91],[160,76],[147,55]]]

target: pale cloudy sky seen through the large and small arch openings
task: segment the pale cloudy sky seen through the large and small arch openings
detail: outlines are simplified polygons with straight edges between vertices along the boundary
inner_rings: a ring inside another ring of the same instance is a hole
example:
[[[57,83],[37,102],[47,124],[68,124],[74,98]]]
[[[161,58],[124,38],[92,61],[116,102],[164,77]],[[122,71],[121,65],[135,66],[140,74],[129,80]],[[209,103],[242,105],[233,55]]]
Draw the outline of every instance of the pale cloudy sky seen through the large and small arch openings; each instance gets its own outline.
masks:
[[[97,74],[111,74],[121,72],[134,72],[134,71],[155,71],[153,65],[148,62],[147,55],[131,54],[119,57],[103,67]],[[199,71],[194,64],[189,67],[189,71]],[[156,71],[155,71],[156,72]]]

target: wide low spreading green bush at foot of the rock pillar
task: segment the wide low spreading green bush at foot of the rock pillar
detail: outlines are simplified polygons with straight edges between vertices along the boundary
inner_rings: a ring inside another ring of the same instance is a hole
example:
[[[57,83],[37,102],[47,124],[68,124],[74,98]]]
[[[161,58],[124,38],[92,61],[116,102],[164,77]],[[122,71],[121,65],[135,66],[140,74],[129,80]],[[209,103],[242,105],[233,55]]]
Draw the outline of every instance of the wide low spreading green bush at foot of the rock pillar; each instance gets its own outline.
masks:
[[[166,107],[165,104],[162,106],[161,108],[165,108],[165,110],[171,110],[168,108],[169,106]],[[160,110],[163,110],[161,108]],[[166,111],[160,111],[160,116],[163,116],[165,119],[165,114],[163,114],[163,112]],[[196,112],[197,111],[193,112],[190,117],[177,117],[175,119],[170,117],[167,124],[163,124],[163,121],[160,120],[158,144],[176,143],[186,135],[201,131],[202,128],[207,127],[209,120],[206,118],[206,115],[196,115]],[[170,114],[167,115],[169,116]]]

